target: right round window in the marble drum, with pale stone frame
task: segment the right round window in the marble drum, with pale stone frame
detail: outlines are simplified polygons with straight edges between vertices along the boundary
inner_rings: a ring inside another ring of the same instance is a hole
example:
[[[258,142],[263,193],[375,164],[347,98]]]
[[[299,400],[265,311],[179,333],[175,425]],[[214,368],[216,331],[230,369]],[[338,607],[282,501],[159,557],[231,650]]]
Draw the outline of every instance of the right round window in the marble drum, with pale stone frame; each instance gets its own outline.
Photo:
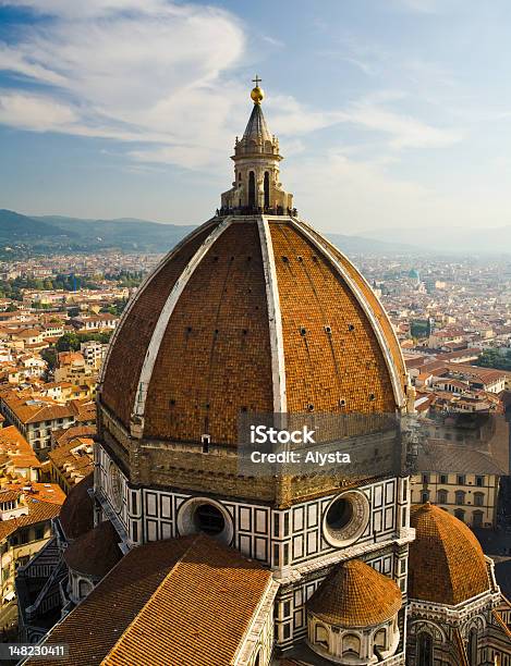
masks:
[[[369,520],[369,503],[364,493],[348,491],[333,497],[323,520],[323,533],[328,543],[342,547],[355,542]]]

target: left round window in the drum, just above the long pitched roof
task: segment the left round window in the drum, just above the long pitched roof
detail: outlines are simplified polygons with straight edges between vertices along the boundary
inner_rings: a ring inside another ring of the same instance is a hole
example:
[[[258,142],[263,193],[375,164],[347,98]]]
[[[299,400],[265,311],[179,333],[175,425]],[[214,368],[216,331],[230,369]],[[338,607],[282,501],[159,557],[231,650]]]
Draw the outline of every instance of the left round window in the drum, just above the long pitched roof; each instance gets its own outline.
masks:
[[[192,497],[180,507],[178,530],[182,535],[202,532],[227,544],[234,533],[227,509],[209,497]]]

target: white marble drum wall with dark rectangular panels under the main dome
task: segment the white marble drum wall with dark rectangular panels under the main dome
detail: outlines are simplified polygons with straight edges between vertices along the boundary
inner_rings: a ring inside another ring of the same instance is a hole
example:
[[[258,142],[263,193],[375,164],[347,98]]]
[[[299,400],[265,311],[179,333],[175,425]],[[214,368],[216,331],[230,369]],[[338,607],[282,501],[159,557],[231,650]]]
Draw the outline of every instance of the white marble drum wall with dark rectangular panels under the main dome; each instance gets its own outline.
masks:
[[[318,557],[340,552],[327,540],[325,515],[332,499],[345,489],[277,510],[269,504],[238,502],[212,493],[131,486],[122,471],[114,471],[115,462],[100,445],[97,445],[97,491],[108,498],[132,543],[180,535],[181,507],[191,497],[203,496],[205,503],[212,501],[227,511],[232,545],[275,569],[284,572],[290,567],[306,566]],[[366,525],[355,543],[343,548],[346,558],[356,556],[365,544],[391,541],[409,526],[406,479],[387,479],[364,485],[360,491],[367,499]]]

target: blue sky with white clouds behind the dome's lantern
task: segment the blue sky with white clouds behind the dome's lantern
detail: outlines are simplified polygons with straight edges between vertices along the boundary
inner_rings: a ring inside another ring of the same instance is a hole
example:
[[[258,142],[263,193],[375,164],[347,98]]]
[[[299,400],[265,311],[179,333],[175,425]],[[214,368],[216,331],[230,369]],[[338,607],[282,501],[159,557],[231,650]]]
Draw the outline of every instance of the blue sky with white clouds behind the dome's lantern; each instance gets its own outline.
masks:
[[[509,0],[0,0],[0,208],[198,224],[252,102],[326,232],[511,224]]]

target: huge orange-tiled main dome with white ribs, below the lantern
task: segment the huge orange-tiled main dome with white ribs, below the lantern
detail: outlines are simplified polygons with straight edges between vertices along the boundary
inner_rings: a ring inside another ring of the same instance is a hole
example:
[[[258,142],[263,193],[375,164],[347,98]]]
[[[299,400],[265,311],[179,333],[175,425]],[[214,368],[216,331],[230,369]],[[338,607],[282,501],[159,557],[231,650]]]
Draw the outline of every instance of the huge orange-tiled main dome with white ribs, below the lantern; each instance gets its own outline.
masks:
[[[100,405],[144,437],[234,444],[241,411],[393,414],[405,383],[384,308],[338,249],[296,219],[229,215],[138,289]]]

